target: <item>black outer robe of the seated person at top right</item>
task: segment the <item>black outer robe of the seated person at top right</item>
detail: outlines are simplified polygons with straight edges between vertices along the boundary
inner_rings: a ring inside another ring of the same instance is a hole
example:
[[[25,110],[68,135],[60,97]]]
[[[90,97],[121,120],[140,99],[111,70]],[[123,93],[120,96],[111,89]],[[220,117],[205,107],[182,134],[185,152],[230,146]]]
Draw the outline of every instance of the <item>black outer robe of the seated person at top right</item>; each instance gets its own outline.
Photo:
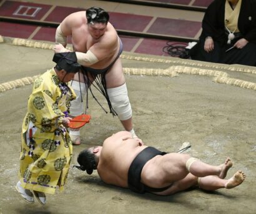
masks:
[[[256,66],[256,0],[243,0],[239,13],[238,28],[240,36],[227,44],[225,32],[225,0],[213,1],[202,21],[202,34],[199,42],[190,50],[191,59],[224,64],[242,64]],[[214,40],[214,50],[207,53],[204,42],[207,36]],[[242,49],[234,48],[228,52],[239,39],[244,38],[249,43]]]

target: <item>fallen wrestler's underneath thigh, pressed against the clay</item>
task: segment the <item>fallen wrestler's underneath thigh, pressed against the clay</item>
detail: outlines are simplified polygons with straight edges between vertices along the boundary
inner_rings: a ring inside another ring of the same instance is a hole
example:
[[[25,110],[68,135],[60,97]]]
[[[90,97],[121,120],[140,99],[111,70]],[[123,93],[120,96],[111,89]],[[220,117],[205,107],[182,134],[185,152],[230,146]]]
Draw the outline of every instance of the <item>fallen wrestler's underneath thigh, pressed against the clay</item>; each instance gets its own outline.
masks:
[[[167,190],[152,193],[156,195],[172,195],[174,193],[187,190],[190,187],[194,187],[195,185],[197,185],[197,177],[189,173],[182,180],[178,180],[177,182],[172,183],[172,186],[170,186]]]

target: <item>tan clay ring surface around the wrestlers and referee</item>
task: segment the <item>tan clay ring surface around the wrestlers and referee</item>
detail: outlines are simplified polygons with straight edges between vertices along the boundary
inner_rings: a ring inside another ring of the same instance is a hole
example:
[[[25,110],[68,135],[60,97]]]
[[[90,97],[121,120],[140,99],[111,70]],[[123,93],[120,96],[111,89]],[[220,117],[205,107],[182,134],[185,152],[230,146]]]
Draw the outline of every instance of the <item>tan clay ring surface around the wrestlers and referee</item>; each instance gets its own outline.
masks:
[[[0,84],[50,69],[50,50],[0,44]],[[124,67],[164,69],[158,62],[122,60]],[[255,75],[229,72],[256,82]],[[234,166],[227,177],[244,170],[245,182],[232,190],[203,192],[195,189],[160,197],[137,194],[104,184],[97,175],[72,168],[63,193],[47,195],[47,205],[29,205],[15,190],[19,170],[21,124],[32,85],[0,93],[0,213],[255,213],[256,120],[255,90],[217,84],[205,75],[177,77],[126,75],[134,129],[146,145],[175,152],[190,142],[193,157],[219,165],[230,157]],[[107,109],[103,97],[94,90]],[[108,110],[108,109],[107,109]],[[89,96],[90,124],[82,129],[82,144],[74,147],[72,165],[84,148],[101,145],[123,130],[117,117],[106,114]],[[71,167],[72,167],[71,165]]]

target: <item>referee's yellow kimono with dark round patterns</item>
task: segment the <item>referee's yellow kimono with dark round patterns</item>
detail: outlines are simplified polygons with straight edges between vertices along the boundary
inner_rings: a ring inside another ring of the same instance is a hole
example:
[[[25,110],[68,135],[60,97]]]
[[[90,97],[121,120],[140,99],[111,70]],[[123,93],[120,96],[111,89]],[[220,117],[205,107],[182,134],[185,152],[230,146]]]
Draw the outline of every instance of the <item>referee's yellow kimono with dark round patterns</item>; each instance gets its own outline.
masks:
[[[74,91],[54,69],[38,77],[22,124],[19,178],[23,188],[54,194],[63,190],[72,157],[72,143],[61,124]]]

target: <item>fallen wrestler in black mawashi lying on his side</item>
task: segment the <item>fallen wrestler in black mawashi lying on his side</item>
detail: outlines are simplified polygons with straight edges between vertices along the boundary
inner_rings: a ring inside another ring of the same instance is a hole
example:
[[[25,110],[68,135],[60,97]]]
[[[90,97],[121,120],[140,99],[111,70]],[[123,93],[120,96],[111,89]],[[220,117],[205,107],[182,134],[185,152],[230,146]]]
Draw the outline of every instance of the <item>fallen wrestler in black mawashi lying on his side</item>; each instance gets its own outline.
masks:
[[[125,131],[108,137],[102,146],[83,150],[77,162],[76,167],[89,175],[97,170],[105,183],[137,193],[171,195],[190,187],[209,191],[230,189],[245,180],[241,170],[224,179],[233,165],[230,158],[220,165],[209,165],[185,153],[166,153],[147,147],[141,139]]]

